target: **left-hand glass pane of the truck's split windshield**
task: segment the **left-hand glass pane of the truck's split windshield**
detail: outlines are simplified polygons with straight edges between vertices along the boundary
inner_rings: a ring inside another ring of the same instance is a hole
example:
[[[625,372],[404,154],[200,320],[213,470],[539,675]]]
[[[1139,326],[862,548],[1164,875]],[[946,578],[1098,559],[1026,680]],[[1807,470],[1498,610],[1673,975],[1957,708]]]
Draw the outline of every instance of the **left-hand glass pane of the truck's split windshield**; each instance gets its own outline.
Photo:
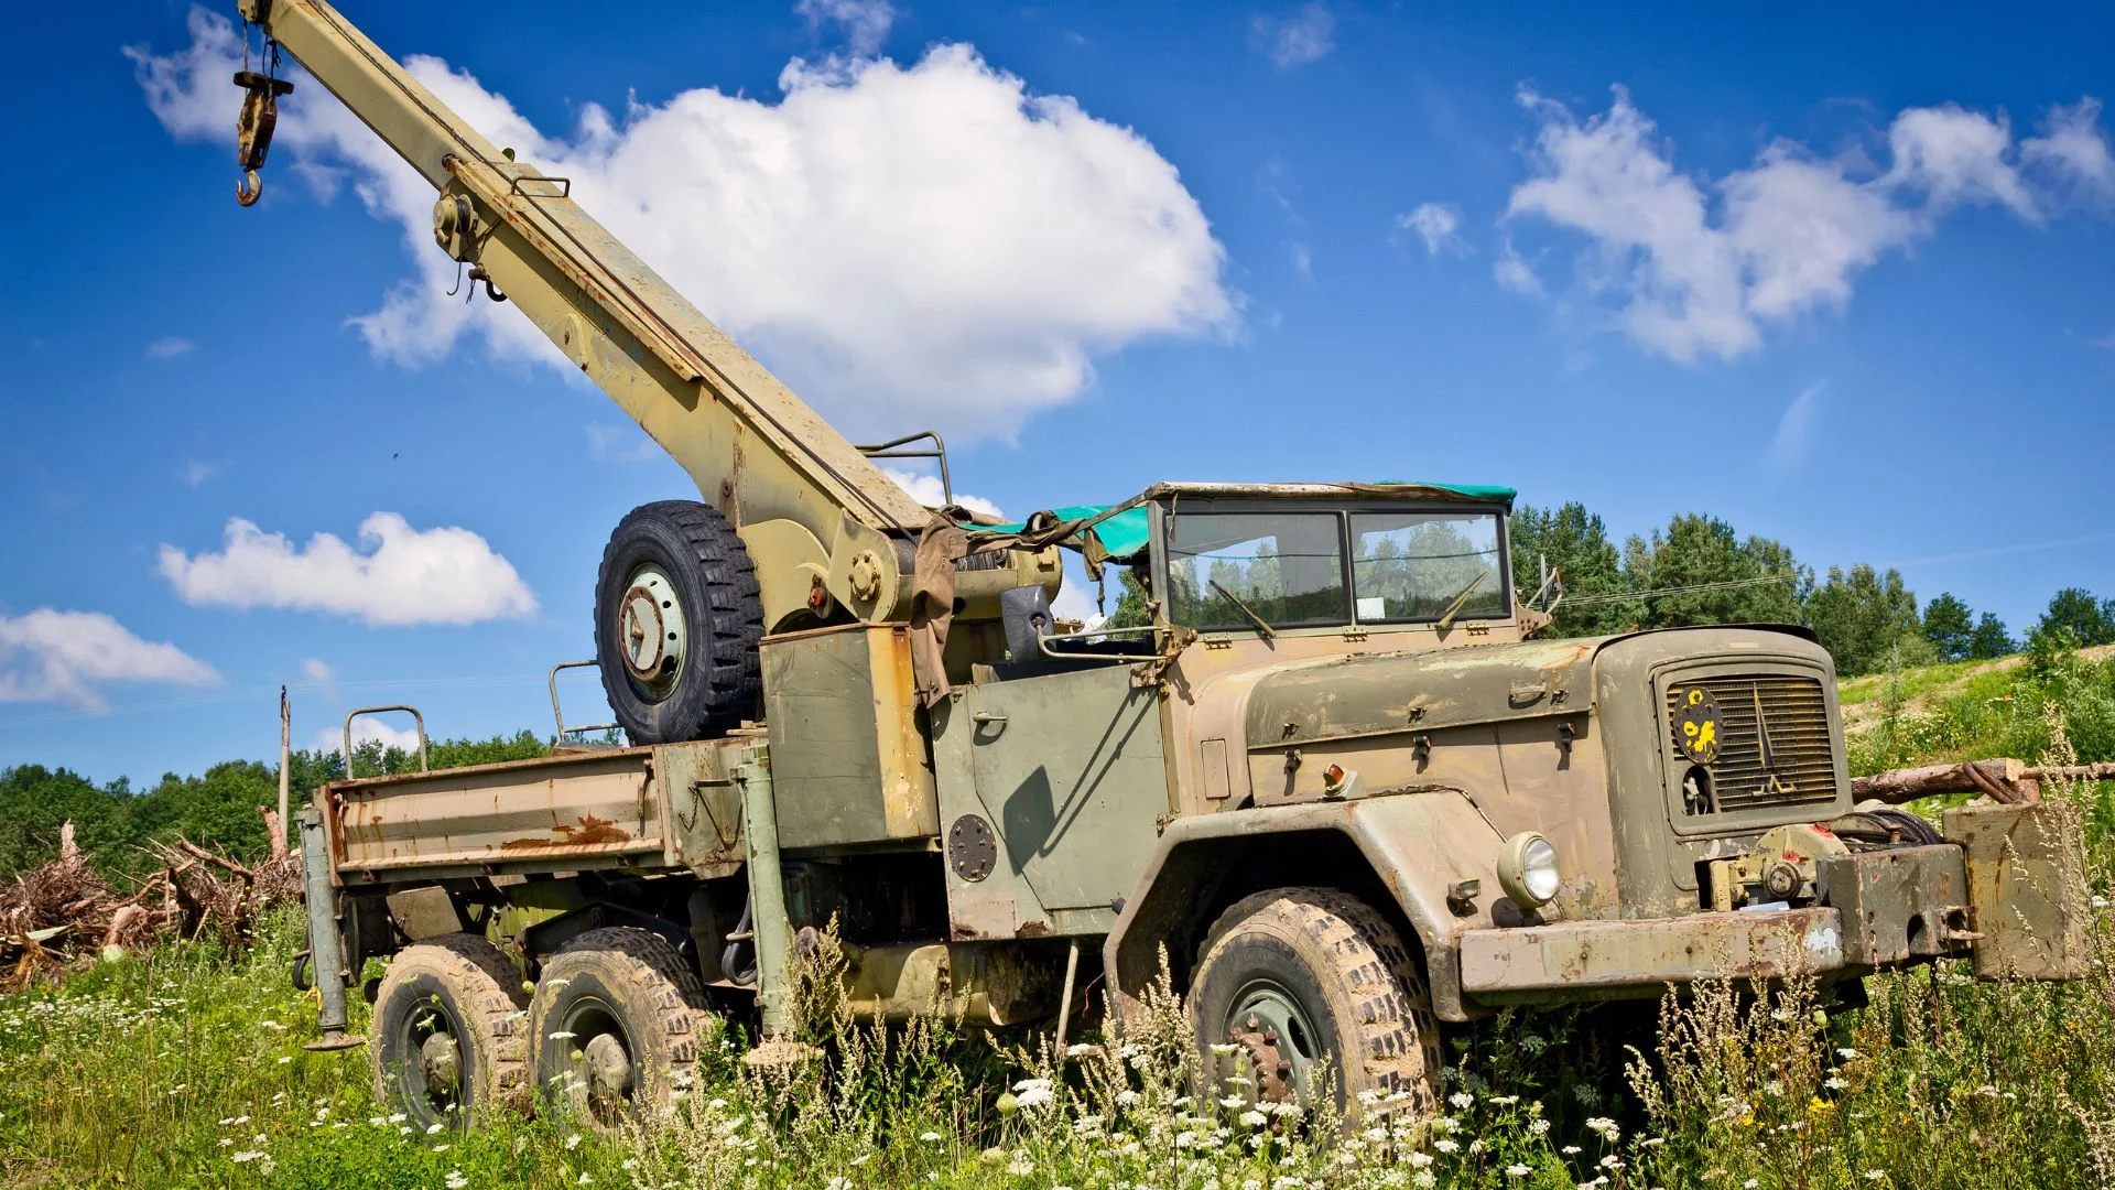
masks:
[[[1170,614],[1197,629],[1341,625],[1337,512],[1180,512],[1167,542]]]

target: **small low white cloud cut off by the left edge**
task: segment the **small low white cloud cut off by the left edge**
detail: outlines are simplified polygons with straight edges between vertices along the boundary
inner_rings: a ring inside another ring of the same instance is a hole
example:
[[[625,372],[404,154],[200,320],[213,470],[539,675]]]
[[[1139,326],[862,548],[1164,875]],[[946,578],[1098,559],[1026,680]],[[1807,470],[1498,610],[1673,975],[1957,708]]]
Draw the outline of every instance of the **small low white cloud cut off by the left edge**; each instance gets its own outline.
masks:
[[[212,665],[173,644],[135,637],[104,612],[38,608],[0,616],[0,703],[63,703],[104,709],[106,682],[220,682]]]

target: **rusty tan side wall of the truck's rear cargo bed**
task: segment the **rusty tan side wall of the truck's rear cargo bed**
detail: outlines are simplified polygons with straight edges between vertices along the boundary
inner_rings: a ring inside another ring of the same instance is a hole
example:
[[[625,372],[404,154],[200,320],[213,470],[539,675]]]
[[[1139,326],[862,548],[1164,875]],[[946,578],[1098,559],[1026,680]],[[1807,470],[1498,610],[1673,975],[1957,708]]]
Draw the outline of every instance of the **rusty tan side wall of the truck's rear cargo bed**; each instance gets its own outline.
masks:
[[[586,868],[719,877],[742,862],[738,771],[764,762],[759,737],[734,735],[362,777],[317,803],[338,885]]]

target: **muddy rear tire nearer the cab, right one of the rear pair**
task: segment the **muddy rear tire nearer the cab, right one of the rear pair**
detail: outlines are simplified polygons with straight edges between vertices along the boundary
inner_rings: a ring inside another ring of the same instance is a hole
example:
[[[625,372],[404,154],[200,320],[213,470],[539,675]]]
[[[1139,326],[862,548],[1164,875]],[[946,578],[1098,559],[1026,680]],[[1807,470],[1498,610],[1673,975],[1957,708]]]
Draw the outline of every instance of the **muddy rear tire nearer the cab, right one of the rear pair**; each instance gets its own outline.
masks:
[[[603,1129],[664,1107],[698,1065],[702,1016],[704,985],[666,938],[590,930],[544,963],[529,1002],[537,1088]]]

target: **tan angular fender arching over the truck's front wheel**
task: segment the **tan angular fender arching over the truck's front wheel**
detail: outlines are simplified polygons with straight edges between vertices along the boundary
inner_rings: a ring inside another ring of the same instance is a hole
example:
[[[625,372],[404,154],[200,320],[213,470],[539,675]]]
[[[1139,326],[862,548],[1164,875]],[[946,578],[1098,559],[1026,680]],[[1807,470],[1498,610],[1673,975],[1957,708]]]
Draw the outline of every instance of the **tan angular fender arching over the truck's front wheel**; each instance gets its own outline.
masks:
[[[1339,832],[1358,847],[1417,930],[1432,1012],[1442,1021],[1468,1021],[1457,940],[1466,930],[1495,925],[1491,906],[1504,900],[1497,887],[1504,839],[1459,790],[1206,813],[1167,824],[1125,898],[1117,927],[1102,942],[1117,1008],[1129,1012],[1138,1006],[1138,995],[1159,974],[1163,940],[1176,936],[1195,906],[1199,883],[1231,849],[1273,834],[1320,830]],[[1447,887],[1457,881],[1481,881],[1466,913],[1447,904]],[[1330,879],[1322,875],[1316,883]]]

